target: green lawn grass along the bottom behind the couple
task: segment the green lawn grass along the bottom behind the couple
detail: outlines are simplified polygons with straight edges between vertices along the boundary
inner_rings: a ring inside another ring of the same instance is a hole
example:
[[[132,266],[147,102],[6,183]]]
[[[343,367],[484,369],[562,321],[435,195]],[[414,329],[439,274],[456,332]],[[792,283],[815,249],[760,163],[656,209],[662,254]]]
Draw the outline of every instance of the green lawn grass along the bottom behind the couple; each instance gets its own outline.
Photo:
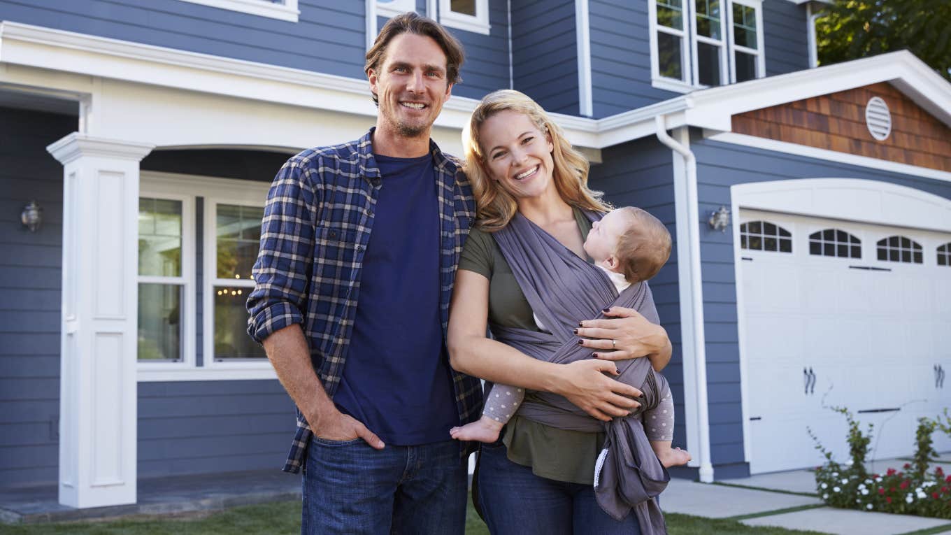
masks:
[[[806,534],[811,531],[790,531],[775,527],[750,527],[728,520],[709,520],[687,515],[667,515],[671,535],[780,535]],[[174,535],[221,534],[274,535],[297,534],[301,530],[301,504],[280,502],[264,505],[247,505],[218,512],[204,518],[185,519],[134,519],[102,523],[68,523],[42,525],[0,525],[4,535]],[[466,533],[487,535],[489,530],[476,515],[472,506],[466,519]]]

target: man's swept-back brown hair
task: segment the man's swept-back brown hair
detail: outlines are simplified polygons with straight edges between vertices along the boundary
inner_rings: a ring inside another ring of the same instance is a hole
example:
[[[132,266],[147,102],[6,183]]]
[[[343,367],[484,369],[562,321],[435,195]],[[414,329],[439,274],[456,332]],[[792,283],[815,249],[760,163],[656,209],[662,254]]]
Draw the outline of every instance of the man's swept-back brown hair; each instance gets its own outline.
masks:
[[[462,68],[462,62],[465,59],[462,45],[435,20],[413,11],[397,15],[383,25],[377,40],[373,43],[373,48],[366,52],[366,65],[363,66],[363,72],[369,75],[370,69],[379,71],[379,66],[386,57],[386,47],[394,37],[402,33],[431,37],[442,49],[442,53],[446,54],[446,83],[455,85],[462,81],[459,77],[459,69]],[[373,102],[379,105],[376,94],[373,95]]]

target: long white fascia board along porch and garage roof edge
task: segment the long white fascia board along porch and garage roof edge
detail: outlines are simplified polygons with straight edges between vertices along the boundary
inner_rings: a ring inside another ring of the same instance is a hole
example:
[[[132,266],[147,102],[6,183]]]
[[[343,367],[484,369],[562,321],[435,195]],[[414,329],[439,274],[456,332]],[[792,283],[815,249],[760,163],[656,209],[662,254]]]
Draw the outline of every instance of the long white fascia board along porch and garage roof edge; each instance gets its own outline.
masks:
[[[366,80],[9,21],[0,22],[0,65],[5,64],[10,69],[22,65],[361,117],[377,115]],[[668,116],[671,129],[729,131],[737,113],[886,81],[951,125],[951,84],[908,51],[696,90],[598,120],[552,116],[573,144],[604,149],[653,134],[658,114]],[[477,105],[476,99],[451,97],[436,126],[461,130]]]

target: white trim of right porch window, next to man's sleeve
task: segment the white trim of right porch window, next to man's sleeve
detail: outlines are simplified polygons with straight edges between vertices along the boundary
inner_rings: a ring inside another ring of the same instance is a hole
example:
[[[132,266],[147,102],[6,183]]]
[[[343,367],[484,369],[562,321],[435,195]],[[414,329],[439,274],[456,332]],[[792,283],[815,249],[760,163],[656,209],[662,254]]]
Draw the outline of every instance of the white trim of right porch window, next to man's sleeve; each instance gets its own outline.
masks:
[[[271,370],[271,363],[267,359],[229,359],[218,362],[215,360],[215,286],[245,287],[250,293],[254,289],[252,279],[219,279],[218,272],[218,240],[215,232],[215,223],[218,214],[218,205],[235,205],[249,208],[262,208],[263,200],[257,191],[245,190],[217,190],[213,195],[204,197],[204,268],[202,277],[202,320],[203,320],[203,347],[202,355],[204,367],[209,370]]]

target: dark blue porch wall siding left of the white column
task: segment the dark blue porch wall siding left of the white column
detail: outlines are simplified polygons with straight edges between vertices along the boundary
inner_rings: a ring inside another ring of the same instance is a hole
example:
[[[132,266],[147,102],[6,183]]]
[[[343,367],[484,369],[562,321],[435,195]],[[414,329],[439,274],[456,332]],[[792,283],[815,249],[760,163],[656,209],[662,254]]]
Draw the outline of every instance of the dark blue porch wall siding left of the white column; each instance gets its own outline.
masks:
[[[63,167],[46,146],[76,128],[0,108],[0,486],[57,478]],[[30,199],[43,208],[35,233],[19,221]]]

